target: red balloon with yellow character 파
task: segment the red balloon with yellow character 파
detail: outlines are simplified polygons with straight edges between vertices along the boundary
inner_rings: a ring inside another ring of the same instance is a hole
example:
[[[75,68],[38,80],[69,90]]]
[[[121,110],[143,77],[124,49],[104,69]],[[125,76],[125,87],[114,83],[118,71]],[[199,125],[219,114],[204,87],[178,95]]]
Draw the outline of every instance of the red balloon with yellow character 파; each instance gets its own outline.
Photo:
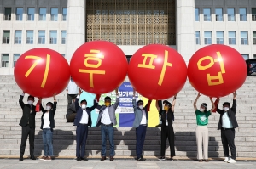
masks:
[[[148,99],[168,99],[177,94],[187,78],[187,66],[176,50],[152,44],[133,54],[128,76],[131,85]]]

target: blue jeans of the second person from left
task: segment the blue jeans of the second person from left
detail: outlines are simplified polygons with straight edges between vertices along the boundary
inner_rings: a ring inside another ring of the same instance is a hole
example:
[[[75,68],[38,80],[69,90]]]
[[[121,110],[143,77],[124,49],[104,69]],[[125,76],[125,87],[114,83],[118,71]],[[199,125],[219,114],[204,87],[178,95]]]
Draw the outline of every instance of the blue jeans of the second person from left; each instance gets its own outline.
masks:
[[[52,134],[53,129],[43,128],[44,156],[53,156]]]

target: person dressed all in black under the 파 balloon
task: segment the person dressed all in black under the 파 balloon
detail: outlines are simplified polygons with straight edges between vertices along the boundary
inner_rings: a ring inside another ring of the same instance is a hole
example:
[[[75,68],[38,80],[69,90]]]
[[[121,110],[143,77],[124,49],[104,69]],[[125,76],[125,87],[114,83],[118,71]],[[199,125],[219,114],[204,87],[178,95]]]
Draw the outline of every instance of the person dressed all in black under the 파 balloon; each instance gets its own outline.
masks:
[[[171,149],[171,158],[169,161],[173,161],[173,157],[175,156],[174,149],[174,131],[172,127],[172,119],[174,116],[174,106],[176,103],[176,95],[173,97],[172,104],[170,102],[166,102],[164,105],[164,110],[160,109],[158,102],[156,102],[156,109],[159,111],[161,115],[161,151],[160,151],[160,161],[166,160],[166,139],[168,138],[170,149]]]

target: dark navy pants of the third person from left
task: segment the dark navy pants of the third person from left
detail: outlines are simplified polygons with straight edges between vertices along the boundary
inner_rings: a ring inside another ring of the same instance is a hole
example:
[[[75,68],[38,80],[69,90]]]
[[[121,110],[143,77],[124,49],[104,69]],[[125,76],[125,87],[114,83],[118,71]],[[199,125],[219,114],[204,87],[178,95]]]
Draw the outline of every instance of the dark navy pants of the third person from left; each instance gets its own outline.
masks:
[[[77,157],[84,157],[86,139],[87,139],[87,136],[88,136],[88,125],[79,124],[79,126],[77,127],[76,133],[77,133],[76,156]]]

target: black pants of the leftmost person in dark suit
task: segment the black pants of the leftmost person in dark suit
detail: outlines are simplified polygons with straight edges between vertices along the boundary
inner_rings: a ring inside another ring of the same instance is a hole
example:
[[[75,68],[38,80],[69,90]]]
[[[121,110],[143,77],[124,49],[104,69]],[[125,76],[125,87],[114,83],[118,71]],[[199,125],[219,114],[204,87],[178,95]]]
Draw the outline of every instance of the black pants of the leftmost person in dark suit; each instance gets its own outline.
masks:
[[[35,128],[31,128],[29,127],[29,125],[26,125],[26,127],[22,127],[20,156],[24,155],[25,148],[26,148],[26,139],[28,135],[29,135],[30,155],[34,155]]]

